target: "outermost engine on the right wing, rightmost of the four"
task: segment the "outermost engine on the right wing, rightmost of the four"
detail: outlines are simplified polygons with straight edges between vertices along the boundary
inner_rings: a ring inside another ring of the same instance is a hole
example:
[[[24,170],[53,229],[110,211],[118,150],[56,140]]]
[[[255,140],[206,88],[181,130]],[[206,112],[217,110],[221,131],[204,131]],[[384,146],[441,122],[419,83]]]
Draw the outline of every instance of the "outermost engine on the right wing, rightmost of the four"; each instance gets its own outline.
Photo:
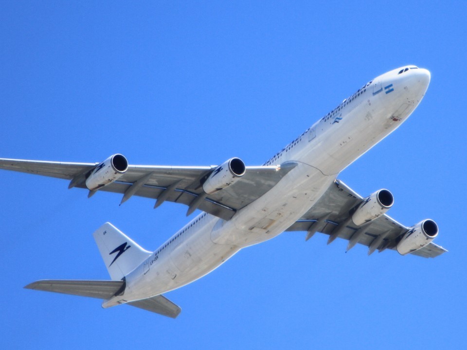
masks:
[[[438,235],[438,225],[427,219],[412,226],[397,244],[397,251],[401,255],[412,253],[428,245]]]

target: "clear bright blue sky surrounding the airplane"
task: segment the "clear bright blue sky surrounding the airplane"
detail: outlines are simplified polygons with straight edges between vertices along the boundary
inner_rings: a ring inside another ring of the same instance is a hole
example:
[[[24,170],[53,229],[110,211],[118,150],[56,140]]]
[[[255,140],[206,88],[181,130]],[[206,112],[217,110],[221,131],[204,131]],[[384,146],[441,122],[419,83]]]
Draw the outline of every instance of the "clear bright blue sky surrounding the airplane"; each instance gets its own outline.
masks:
[[[173,320],[23,289],[107,280],[92,232],[148,250],[186,207],[0,172],[4,349],[460,349],[467,326],[464,1],[0,1],[0,157],[260,165],[379,74],[431,71],[409,120],[344,170],[389,214],[434,219],[436,259],[287,232],[166,297]],[[193,214],[195,215],[195,214]]]

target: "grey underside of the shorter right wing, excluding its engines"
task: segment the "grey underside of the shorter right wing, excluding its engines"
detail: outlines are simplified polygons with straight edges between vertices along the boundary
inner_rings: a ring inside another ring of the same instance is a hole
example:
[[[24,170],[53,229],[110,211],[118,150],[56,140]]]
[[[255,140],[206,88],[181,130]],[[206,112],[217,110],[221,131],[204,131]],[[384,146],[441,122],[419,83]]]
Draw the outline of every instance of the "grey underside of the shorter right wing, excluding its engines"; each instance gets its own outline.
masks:
[[[350,213],[362,197],[340,180],[335,180],[319,201],[308,210],[305,215],[290,226],[287,231],[307,231],[306,240],[315,232],[329,235],[328,244],[337,237],[354,241],[369,247],[370,255],[375,250],[379,252],[389,248],[395,249],[402,235],[407,232],[406,227],[392,217],[383,214],[368,224],[358,227],[350,220]],[[347,249],[353,245],[349,244]],[[410,254],[424,258],[434,258],[447,250],[439,245],[430,243]]]

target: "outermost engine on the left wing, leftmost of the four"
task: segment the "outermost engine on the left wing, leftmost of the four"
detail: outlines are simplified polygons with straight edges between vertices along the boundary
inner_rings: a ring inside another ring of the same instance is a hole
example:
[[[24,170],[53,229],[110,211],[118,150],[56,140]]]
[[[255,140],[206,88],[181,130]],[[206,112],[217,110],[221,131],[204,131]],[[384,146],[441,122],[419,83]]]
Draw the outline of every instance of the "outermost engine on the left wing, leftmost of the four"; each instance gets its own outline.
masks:
[[[114,182],[125,174],[126,170],[128,170],[128,161],[124,156],[121,154],[110,156],[86,175],[86,187],[96,191]]]

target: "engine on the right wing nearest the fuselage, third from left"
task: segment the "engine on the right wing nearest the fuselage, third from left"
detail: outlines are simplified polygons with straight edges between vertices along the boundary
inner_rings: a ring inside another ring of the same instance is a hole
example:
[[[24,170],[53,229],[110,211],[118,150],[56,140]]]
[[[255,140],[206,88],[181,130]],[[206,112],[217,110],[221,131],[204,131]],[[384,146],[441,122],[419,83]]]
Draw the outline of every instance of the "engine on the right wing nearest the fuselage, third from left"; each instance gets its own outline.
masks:
[[[361,226],[380,217],[394,204],[394,196],[388,190],[379,190],[366,197],[352,215],[355,225]]]

